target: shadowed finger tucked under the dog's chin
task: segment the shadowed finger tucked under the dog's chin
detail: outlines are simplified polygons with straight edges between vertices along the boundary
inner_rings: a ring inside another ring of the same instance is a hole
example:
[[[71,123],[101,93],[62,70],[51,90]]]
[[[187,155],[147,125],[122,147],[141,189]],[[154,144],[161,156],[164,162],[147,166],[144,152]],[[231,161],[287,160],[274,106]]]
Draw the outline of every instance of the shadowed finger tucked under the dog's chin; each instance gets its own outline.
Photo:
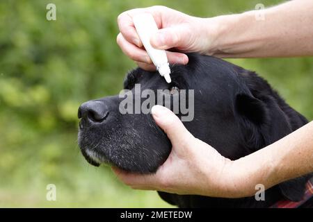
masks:
[[[129,173],[118,167],[112,167],[112,170],[125,185],[134,189],[155,189],[152,185],[157,184],[155,174]]]

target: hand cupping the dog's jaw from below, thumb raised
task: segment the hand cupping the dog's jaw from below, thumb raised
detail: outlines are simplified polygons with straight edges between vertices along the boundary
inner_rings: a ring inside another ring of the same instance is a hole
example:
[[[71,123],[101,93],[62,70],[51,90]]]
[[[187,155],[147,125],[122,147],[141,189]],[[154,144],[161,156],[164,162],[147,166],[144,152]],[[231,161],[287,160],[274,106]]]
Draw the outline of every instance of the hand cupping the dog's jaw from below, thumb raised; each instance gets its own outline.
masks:
[[[156,173],[138,174],[112,167],[133,189],[150,189],[175,194],[231,196],[232,161],[208,144],[196,139],[168,108],[154,105],[154,121],[172,142],[172,151]]]

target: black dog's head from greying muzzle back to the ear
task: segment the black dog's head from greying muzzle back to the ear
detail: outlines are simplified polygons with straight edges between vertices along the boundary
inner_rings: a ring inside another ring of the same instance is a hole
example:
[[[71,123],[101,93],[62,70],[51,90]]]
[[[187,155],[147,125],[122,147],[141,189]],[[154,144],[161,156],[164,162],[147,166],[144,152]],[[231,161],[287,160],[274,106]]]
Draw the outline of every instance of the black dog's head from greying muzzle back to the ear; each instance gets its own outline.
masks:
[[[149,101],[152,107],[170,102],[173,110],[177,103],[183,105],[181,94],[184,89],[184,108],[190,108],[193,113],[182,114],[179,105],[176,113],[182,118],[191,117],[191,121],[184,121],[188,130],[195,137],[223,149],[222,153],[227,157],[245,154],[237,148],[240,133],[234,119],[234,99],[240,81],[236,71],[216,58],[189,57],[188,65],[171,67],[172,83],[166,83],[157,72],[138,68],[129,72],[125,79],[124,87],[130,90],[125,96],[109,96],[81,105],[79,146],[88,162],[95,165],[109,162],[141,173],[156,171],[168,157],[171,144],[154,123],[152,115],[144,112],[143,103]],[[154,103],[153,96],[144,93],[146,89],[154,93]],[[189,89],[194,90],[193,94]],[[188,98],[191,96],[193,98]],[[127,97],[134,102],[124,104]],[[132,113],[123,113],[121,108]]]

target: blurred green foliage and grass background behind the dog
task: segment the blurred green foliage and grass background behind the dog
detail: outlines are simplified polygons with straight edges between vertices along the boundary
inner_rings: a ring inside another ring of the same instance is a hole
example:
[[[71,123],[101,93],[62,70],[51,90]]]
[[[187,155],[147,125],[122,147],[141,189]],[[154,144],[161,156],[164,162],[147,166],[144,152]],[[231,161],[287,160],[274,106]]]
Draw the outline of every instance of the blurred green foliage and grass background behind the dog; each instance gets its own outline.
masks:
[[[0,207],[168,207],[154,191],[122,185],[109,167],[88,165],[77,146],[79,104],[117,94],[135,67],[115,43],[117,16],[163,5],[211,17],[280,2],[1,0]],[[56,21],[47,21],[47,3],[56,4]],[[231,61],[312,120],[312,58]],[[46,200],[51,183],[56,201]]]

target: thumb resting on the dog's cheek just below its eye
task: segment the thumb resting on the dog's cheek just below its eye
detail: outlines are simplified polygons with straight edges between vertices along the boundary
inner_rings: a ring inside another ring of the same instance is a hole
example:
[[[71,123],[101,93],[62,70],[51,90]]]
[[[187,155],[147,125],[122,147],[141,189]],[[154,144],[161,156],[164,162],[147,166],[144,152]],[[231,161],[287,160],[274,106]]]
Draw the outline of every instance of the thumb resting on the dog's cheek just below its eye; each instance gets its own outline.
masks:
[[[154,105],[151,112],[154,121],[166,133],[172,146],[188,146],[195,139],[182,121],[168,108]]]

